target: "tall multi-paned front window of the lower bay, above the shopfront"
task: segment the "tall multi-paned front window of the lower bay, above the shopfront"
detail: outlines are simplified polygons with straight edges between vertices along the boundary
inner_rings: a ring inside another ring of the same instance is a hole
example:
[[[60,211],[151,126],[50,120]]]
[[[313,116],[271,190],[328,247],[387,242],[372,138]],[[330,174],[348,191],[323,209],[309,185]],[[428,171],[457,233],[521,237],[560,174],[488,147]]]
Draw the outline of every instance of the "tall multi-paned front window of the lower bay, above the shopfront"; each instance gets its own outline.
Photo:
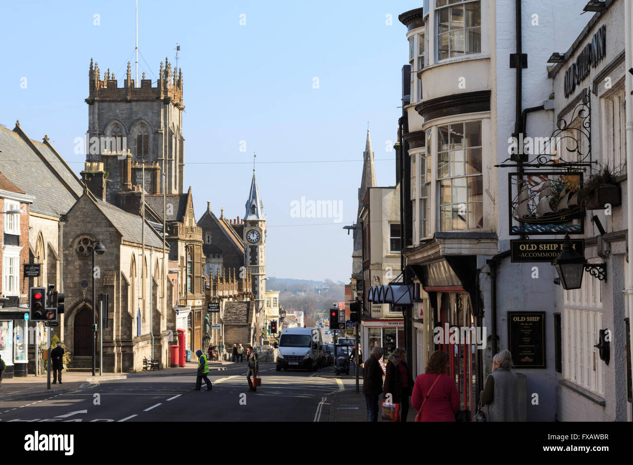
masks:
[[[481,121],[437,127],[440,230],[484,227]]]

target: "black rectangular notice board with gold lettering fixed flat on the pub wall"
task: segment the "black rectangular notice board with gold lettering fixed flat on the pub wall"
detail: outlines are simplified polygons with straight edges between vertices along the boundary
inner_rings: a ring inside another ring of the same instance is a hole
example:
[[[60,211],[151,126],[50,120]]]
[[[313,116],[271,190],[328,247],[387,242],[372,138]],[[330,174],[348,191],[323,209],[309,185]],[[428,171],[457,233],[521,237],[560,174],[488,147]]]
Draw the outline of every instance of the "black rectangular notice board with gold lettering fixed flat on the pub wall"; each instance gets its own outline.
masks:
[[[517,368],[546,368],[545,312],[508,312],[508,349]]]

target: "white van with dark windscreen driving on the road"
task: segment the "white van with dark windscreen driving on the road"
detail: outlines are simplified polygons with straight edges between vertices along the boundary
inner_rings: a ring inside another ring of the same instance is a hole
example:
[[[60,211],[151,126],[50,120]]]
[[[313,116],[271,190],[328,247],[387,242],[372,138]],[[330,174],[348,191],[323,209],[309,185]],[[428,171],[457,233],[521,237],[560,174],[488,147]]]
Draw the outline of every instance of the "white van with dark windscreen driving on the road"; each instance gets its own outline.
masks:
[[[314,371],[323,363],[323,338],[319,328],[285,328],[279,337],[277,371],[303,368]]]

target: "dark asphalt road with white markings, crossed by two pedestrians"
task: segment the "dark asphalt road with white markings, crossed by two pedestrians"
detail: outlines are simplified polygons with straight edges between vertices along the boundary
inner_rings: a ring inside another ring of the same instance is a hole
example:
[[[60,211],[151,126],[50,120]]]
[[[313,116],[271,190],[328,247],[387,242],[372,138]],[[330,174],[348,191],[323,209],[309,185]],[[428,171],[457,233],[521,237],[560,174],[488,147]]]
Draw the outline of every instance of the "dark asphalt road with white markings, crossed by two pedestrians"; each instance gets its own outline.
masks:
[[[195,376],[103,381],[52,397],[0,402],[0,422],[323,421],[327,395],[353,385],[349,378],[332,377],[329,368],[277,373],[274,364],[261,364],[260,373],[262,386],[255,393],[248,392],[246,364],[211,371],[211,392],[204,383],[194,391]]]

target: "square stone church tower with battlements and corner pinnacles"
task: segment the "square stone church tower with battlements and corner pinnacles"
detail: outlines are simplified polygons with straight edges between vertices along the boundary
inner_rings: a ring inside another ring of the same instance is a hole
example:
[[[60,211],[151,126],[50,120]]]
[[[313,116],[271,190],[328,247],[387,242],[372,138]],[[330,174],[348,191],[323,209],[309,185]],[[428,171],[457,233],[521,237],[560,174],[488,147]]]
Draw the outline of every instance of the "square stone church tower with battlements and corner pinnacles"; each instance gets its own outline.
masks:
[[[165,58],[156,86],[145,78],[132,79],[130,63],[123,87],[110,68],[101,78],[90,61],[86,164],[82,177],[101,180],[104,200],[116,204],[118,192],[140,185],[145,162],[144,189],[148,194],[182,194],[184,137],[182,136],[182,70]],[[104,152],[105,151],[105,152]],[[129,151],[129,154],[126,153]],[[166,177],[163,177],[165,173]],[[105,182],[108,178],[108,182]],[[91,186],[92,190],[92,186]]]

